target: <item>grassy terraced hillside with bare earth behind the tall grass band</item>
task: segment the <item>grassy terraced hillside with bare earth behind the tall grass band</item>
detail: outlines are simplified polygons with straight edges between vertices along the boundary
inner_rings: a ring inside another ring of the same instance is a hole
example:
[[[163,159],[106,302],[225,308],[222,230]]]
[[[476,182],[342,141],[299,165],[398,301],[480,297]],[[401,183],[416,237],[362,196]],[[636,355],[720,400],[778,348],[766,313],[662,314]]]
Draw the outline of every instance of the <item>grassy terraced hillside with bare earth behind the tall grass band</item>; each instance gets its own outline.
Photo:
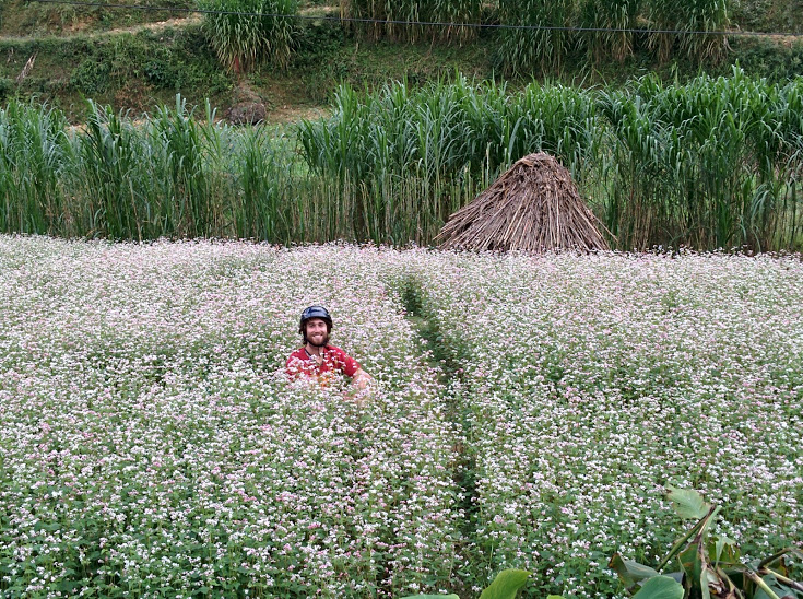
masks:
[[[139,5],[166,10],[46,4],[12,0],[0,5],[0,101],[36,98],[80,120],[85,99],[119,110],[141,113],[170,103],[180,93],[190,105],[205,98],[223,114],[240,102],[264,104],[272,121],[295,120],[326,107],[341,81],[375,87],[390,80],[416,84],[462,72],[479,79],[498,78],[495,33],[462,45],[444,43],[371,43],[338,23],[305,19],[295,37],[286,69],[262,64],[235,75],[222,68],[211,48],[202,19],[186,0],[145,0]],[[336,15],[335,7],[303,2],[300,13]],[[484,15],[483,19],[492,19]],[[732,10],[734,31],[803,32],[801,0],[747,0]],[[673,58],[659,61],[646,39],[635,38],[635,55],[619,62],[589,67],[581,55],[567,56],[559,69],[533,70],[531,77],[582,85],[623,82],[646,72],[686,79],[701,69],[730,72],[739,62],[747,73],[783,80],[803,72],[803,38],[730,38],[724,59],[698,63]]]

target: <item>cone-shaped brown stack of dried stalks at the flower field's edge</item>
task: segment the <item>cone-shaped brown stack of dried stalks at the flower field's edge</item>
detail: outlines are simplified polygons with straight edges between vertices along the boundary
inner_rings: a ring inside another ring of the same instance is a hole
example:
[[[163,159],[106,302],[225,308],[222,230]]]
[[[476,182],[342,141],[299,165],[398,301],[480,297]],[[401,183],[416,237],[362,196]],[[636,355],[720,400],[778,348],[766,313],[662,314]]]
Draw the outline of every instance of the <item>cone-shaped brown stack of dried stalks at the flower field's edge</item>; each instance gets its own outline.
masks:
[[[569,172],[539,153],[518,161],[452,214],[435,240],[445,249],[609,249],[598,223]]]

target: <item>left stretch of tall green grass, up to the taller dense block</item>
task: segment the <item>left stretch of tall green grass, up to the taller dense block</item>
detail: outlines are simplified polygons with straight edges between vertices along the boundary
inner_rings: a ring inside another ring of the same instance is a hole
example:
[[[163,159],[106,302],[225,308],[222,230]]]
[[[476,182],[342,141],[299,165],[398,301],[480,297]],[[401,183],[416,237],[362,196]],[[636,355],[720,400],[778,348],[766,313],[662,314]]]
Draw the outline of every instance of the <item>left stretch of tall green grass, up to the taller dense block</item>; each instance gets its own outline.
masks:
[[[279,207],[285,143],[261,129],[216,126],[209,107],[204,116],[177,98],[140,126],[93,104],[86,127],[68,134],[58,110],[12,103],[0,110],[3,230],[286,243],[309,235],[298,212]]]

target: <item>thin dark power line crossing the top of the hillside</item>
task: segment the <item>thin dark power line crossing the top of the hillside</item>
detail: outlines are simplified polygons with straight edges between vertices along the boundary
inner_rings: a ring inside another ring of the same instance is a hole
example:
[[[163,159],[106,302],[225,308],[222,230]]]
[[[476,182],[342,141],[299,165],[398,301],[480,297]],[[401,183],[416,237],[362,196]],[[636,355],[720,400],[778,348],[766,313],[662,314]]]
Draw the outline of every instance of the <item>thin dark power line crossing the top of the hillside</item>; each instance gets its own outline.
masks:
[[[330,16],[330,15],[307,15],[307,14],[280,14],[280,13],[260,13],[260,12],[243,12],[243,11],[219,11],[204,9],[186,9],[177,7],[145,7],[142,4],[109,4],[106,2],[90,2],[82,0],[33,0],[43,4],[67,4],[73,7],[95,7],[104,9],[125,9],[141,11],[161,11],[161,12],[182,12],[188,14],[221,14],[236,16],[267,16],[273,19],[293,19],[298,21],[330,21],[336,23],[368,23],[374,25],[408,25],[422,27],[444,27],[444,28],[476,28],[476,30],[523,30],[523,31],[551,31],[551,32],[591,32],[591,33],[635,33],[635,34],[678,34],[678,35],[719,35],[719,36],[784,36],[801,37],[800,32],[744,32],[744,31],[684,31],[684,30],[649,30],[649,28],[629,28],[629,27],[577,27],[577,26],[553,26],[553,25],[507,25],[503,23],[449,23],[434,21],[395,21],[381,19],[361,19],[355,16]]]

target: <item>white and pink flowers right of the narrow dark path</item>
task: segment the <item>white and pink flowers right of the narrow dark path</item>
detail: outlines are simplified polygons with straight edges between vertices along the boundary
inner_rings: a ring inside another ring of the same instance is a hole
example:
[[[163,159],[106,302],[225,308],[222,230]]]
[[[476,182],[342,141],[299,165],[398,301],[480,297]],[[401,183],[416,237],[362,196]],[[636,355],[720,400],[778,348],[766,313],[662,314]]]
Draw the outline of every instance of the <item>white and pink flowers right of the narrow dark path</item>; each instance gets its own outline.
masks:
[[[730,255],[420,254],[462,378],[475,560],[541,596],[618,589],[683,524],[668,485],[722,504],[754,556],[803,539],[803,265]]]

